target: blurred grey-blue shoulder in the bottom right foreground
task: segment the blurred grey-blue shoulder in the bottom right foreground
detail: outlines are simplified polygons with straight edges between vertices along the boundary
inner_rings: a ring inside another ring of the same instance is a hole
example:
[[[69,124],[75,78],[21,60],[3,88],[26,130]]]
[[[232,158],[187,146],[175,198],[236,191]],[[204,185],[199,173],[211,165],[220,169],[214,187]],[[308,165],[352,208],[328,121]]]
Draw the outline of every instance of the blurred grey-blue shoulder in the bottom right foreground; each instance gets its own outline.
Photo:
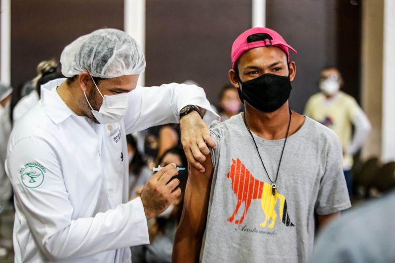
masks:
[[[309,263],[394,263],[395,191],[350,209],[319,233]]]

